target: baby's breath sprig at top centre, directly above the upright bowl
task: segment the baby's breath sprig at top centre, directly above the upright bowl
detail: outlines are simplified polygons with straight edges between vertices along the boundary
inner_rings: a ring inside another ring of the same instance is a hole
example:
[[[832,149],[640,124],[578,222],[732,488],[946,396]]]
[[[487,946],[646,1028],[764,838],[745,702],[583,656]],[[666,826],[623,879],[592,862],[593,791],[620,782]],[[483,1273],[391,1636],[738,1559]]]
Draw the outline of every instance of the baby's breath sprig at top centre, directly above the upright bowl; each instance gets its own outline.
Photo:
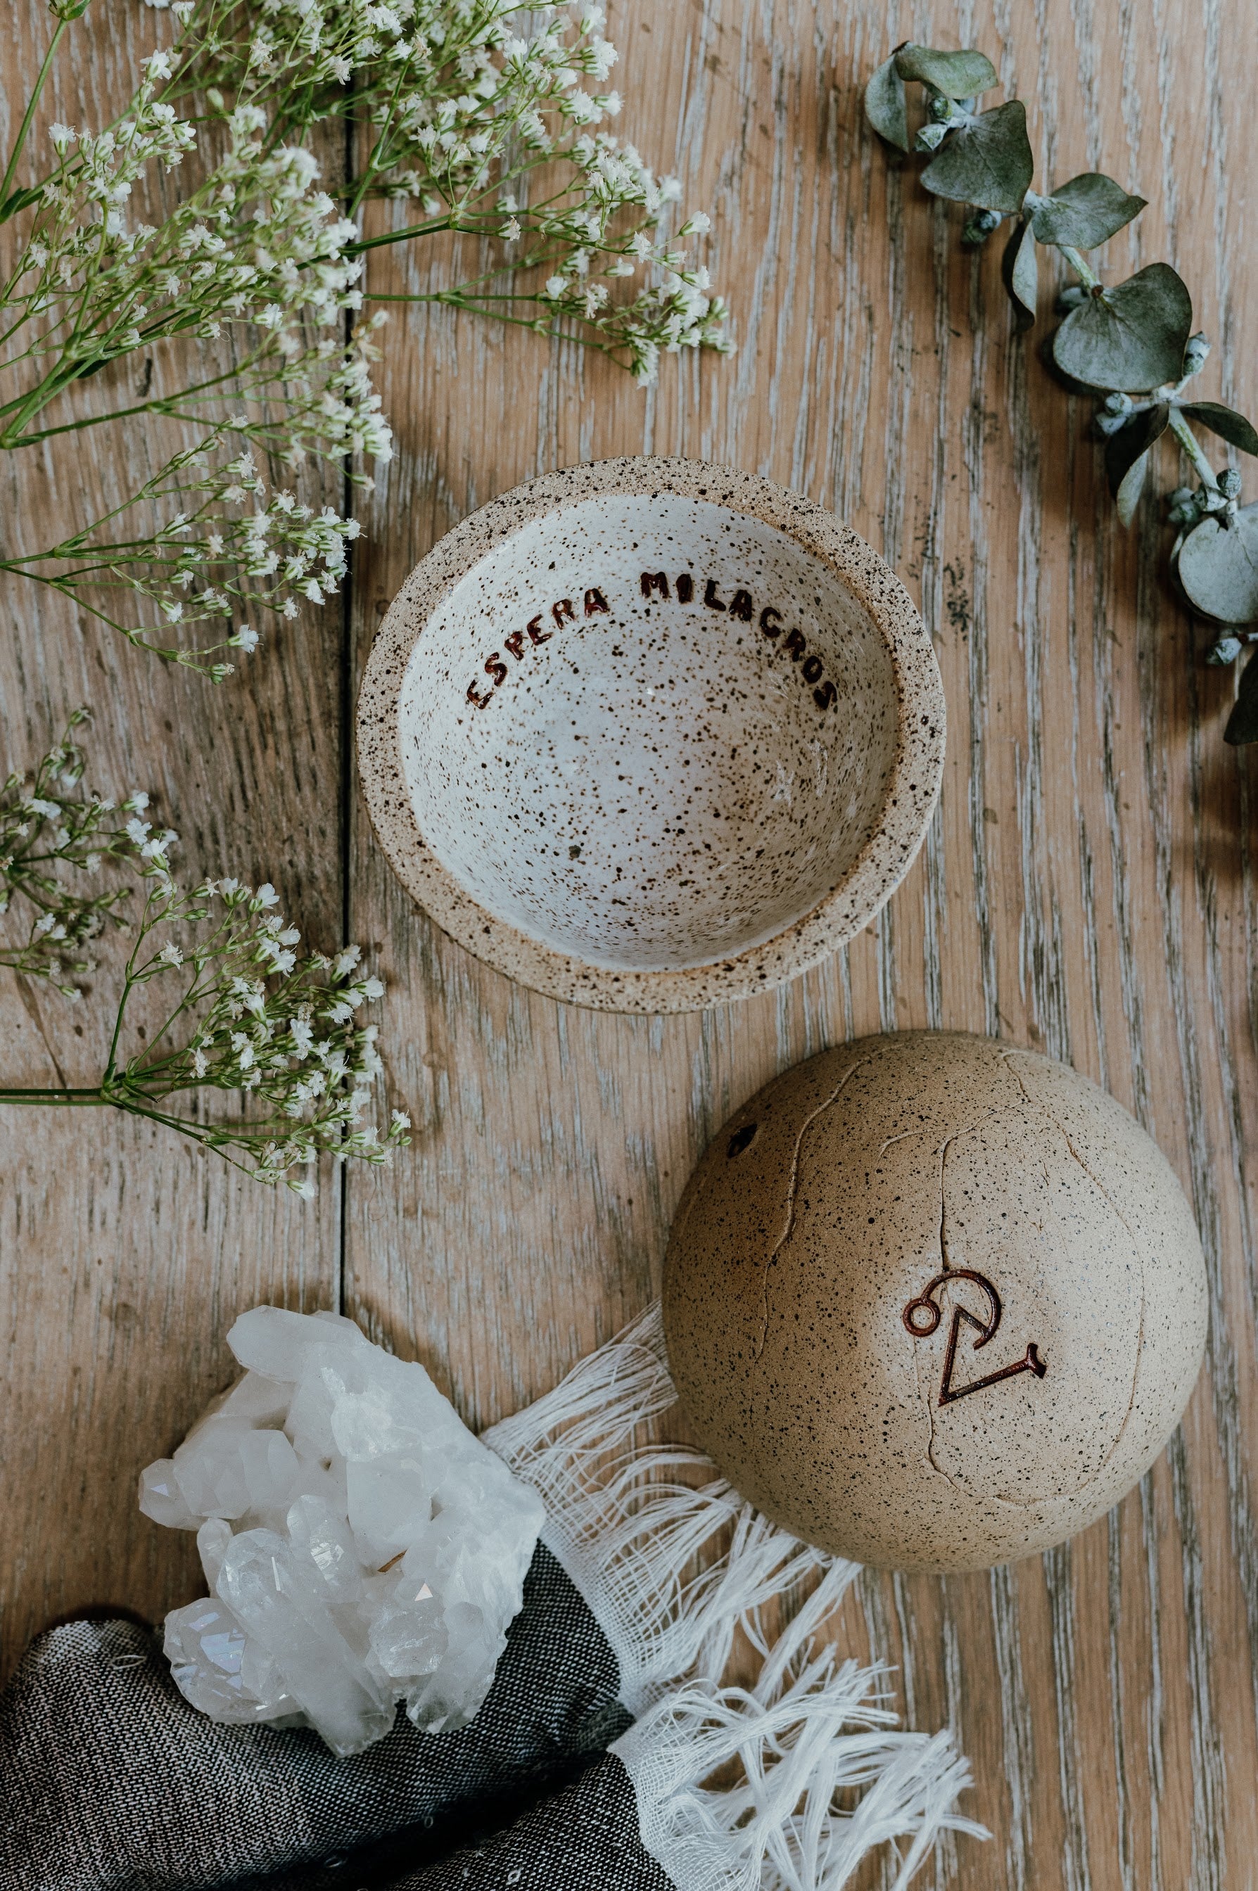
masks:
[[[620,96],[581,83],[603,81],[617,59],[602,36],[602,8],[571,21],[549,0],[429,6],[407,19],[412,47],[422,11],[450,13],[452,30],[437,42],[429,30],[422,83],[393,87],[376,106],[376,142],[354,206],[367,195],[416,199],[424,219],[358,248],[439,229],[499,238],[501,248],[490,269],[458,286],[369,299],[445,303],[562,335],[620,361],[643,386],[656,380],[660,354],[728,354],[726,304],[679,248],[708,231],[708,216],[696,212],[675,238],[666,234],[679,182],[656,178],[632,144],[600,130],[619,115]],[[532,28],[528,38],[520,25]],[[622,293],[634,278],[634,291]]]

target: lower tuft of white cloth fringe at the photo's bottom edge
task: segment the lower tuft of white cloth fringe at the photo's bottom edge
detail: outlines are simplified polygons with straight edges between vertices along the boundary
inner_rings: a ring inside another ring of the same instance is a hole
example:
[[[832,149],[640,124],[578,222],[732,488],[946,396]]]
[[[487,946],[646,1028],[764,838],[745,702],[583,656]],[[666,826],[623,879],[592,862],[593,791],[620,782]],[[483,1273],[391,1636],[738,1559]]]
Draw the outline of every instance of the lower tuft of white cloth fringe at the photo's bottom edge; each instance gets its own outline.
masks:
[[[796,1639],[796,1638],[793,1638]],[[776,1651],[774,1651],[776,1653]],[[950,1734],[908,1734],[880,1706],[882,1668],[770,1657],[755,1689],[689,1681],[615,1742],[641,1842],[683,1891],[838,1891],[891,1844],[902,1891],[940,1832],[986,1838],[955,1810],[970,1768]],[[742,1781],[706,1787],[738,1761]],[[865,1789],[840,1810],[840,1793]]]

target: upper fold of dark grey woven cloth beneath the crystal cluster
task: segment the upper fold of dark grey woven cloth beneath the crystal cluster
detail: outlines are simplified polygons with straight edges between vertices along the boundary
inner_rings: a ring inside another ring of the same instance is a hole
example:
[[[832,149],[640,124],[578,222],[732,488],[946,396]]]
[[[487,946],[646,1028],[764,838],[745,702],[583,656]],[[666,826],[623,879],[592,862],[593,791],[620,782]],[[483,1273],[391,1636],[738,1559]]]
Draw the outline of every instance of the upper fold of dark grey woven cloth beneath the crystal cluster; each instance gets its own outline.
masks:
[[[399,1713],[354,1759],[310,1732],[208,1721],[144,1628],[53,1628],[0,1702],[0,1891],[390,1882],[588,1766],[628,1725],[617,1685],[602,1630],[541,1545],[471,1726],[420,1734]],[[293,1876],[299,1865],[327,1878]]]

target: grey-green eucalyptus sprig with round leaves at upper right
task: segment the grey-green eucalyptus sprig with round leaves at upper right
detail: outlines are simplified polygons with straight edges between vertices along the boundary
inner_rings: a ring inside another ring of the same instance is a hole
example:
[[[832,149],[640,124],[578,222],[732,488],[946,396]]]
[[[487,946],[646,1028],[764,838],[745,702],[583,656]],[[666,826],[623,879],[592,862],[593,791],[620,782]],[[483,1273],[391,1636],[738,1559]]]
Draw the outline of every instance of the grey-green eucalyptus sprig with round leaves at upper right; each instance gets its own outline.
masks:
[[[923,123],[910,140],[906,85],[921,87]],[[1169,263],[1148,263],[1126,282],[1107,286],[1088,261],[1144,210],[1103,172],[1084,172],[1040,195],[1031,189],[1035,159],[1020,98],[978,110],[997,85],[991,61],[978,51],[899,45],[865,89],[865,112],[895,151],[929,159],[921,183],[935,197],[967,204],[961,242],[978,246],[1012,219],[1001,274],[1018,331],[1037,320],[1037,250],[1056,250],[1075,274],[1056,310],[1050,361],[1071,390],[1099,395],[1095,425],[1105,439],[1105,471],[1129,526],[1158,441],[1169,433],[1197,478],[1169,494],[1167,518],[1177,528],[1171,577],[1197,616],[1220,628],[1207,662],[1232,664],[1245,643],[1258,641],[1258,505],[1241,505],[1235,467],[1214,473],[1194,424],[1241,452],[1258,454],[1258,431],[1218,401],[1194,399],[1190,382],[1209,356],[1205,335],[1192,331],[1192,295]],[[1258,652],[1245,668],[1224,730],[1230,743],[1258,741]]]

